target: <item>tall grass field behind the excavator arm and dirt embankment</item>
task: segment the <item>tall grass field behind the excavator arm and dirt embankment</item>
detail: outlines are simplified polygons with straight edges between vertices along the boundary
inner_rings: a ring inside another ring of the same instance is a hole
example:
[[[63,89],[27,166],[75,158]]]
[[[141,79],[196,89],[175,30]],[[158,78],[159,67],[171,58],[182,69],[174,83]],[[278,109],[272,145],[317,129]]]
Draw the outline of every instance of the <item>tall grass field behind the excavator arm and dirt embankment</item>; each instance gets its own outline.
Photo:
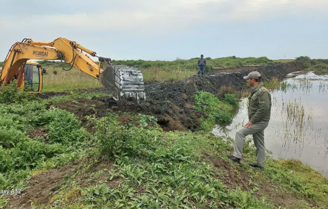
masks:
[[[275,63],[266,58],[206,58],[206,70],[213,68],[235,68],[249,65],[268,65]],[[113,60],[113,64],[129,65],[137,67],[144,76],[144,81],[178,81],[189,78],[197,73],[198,58],[176,59],[174,61],[146,61],[146,60]],[[58,61],[42,60],[39,63],[47,68],[44,75],[44,91],[64,91],[82,88],[98,88],[102,85],[94,78],[73,68],[71,71],[63,71]],[[69,67],[69,65],[65,65]],[[54,72],[56,74],[54,74]]]

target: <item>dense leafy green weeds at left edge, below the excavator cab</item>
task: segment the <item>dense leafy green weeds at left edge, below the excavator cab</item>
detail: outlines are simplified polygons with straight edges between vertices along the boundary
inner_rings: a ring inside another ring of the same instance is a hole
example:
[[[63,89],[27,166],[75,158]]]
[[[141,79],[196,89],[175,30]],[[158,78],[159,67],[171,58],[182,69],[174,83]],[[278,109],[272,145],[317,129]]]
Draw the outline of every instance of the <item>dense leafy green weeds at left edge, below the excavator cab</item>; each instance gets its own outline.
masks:
[[[12,93],[15,96],[16,92]],[[92,141],[91,134],[81,127],[73,114],[46,109],[46,103],[22,100],[10,105],[0,104],[1,188],[23,187],[33,169],[74,161],[84,151],[74,148]]]

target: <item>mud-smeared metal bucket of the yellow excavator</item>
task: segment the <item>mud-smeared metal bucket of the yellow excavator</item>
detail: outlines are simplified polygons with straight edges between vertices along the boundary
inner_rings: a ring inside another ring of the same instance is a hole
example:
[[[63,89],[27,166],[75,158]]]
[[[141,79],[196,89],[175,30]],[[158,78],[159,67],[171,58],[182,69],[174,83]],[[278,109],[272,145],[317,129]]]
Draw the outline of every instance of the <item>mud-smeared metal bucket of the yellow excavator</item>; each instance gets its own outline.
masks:
[[[134,98],[145,100],[143,76],[138,68],[125,65],[104,63],[104,71],[99,75],[99,81],[113,91],[113,98]]]

